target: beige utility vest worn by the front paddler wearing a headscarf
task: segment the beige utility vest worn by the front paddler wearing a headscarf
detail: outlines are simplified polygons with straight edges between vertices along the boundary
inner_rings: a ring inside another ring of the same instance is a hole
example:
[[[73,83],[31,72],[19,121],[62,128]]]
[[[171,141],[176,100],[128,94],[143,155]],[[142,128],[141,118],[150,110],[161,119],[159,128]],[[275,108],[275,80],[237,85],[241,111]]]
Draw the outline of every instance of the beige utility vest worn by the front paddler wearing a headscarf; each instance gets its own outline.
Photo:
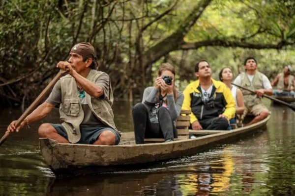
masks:
[[[87,79],[95,82],[102,72],[90,70]],[[71,75],[65,75],[60,78],[61,86],[61,104],[59,106],[60,120],[62,126],[67,132],[68,140],[71,143],[77,143],[81,138],[80,124],[84,119],[84,112],[80,103],[77,90],[77,83]],[[111,83],[109,83],[109,100],[103,98],[94,98],[86,93],[86,99],[89,108],[93,114],[106,126],[116,129],[114,123],[114,114],[111,106],[113,105],[113,92]]]

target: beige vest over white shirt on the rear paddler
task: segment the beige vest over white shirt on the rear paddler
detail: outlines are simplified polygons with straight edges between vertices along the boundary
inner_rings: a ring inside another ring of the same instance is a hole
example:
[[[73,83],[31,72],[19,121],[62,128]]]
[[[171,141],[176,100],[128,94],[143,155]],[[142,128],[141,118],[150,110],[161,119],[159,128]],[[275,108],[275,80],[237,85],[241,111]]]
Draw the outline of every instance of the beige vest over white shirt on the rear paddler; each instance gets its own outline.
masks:
[[[263,74],[256,71],[252,82],[250,82],[249,78],[247,77],[246,73],[241,73],[241,86],[245,87],[250,90],[257,90],[257,89],[263,89]],[[246,107],[252,107],[253,105],[257,105],[262,103],[262,98],[258,97],[256,94],[253,94],[249,91],[241,89],[243,97],[244,97],[244,103]]]

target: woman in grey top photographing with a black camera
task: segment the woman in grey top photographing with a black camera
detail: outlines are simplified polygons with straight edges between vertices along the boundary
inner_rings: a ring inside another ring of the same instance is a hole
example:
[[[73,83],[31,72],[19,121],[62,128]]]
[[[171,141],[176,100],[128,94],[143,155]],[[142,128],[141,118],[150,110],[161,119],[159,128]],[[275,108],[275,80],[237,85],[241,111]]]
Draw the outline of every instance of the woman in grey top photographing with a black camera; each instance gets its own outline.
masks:
[[[154,86],[145,89],[143,101],[132,111],[136,144],[145,138],[177,138],[176,119],[180,114],[183,94],[175,87],[175,70],[169,63],[158,69]]]

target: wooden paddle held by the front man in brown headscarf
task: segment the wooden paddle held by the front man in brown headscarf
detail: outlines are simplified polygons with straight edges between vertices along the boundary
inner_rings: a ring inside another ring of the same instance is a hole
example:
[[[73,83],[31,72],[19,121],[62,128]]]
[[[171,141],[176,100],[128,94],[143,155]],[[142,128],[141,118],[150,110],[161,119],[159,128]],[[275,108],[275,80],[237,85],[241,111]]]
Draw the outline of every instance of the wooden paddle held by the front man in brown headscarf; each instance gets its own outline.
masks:
[[[50,92],[53,86],[57,83],[59,78],[67,71],[60,70],[59,73],[53,78],[53,80],[46,86],[46,88],[41,92],[41,94],[30,104],[28,109],[22,114],[22,116],[17,120],[15,126],[18,127],[26,117],[37,107],[39,102]],[[9,132],[5,132],[4,136],[0,139],[0,146],[7,140]]]

